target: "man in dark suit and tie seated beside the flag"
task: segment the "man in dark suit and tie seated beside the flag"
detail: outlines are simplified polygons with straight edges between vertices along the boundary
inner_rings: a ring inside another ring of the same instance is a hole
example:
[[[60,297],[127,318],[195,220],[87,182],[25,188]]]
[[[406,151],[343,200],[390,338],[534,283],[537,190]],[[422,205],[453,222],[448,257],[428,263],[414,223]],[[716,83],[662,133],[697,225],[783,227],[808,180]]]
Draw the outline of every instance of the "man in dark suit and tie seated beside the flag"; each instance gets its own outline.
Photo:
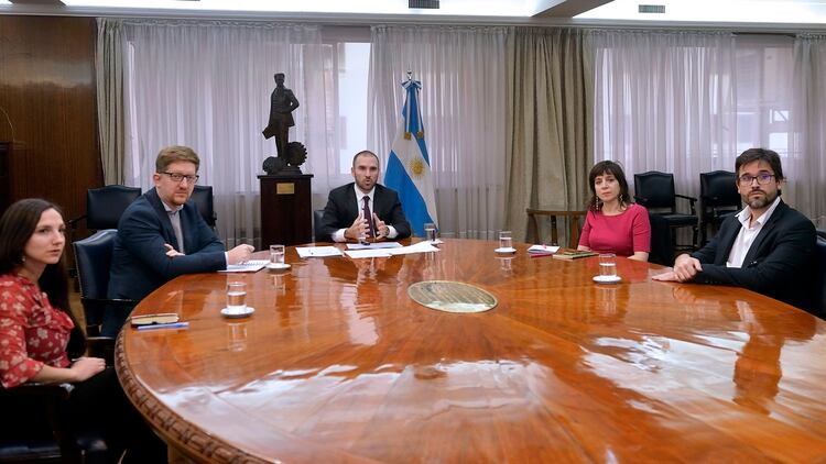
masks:
[[[352,158],[350,183],[333,189],[324,208],[319,242],[347,242],[361,236],[406,239],[410,223],[404,218],[399,194],[378,183],[379,157],[359,152]]]

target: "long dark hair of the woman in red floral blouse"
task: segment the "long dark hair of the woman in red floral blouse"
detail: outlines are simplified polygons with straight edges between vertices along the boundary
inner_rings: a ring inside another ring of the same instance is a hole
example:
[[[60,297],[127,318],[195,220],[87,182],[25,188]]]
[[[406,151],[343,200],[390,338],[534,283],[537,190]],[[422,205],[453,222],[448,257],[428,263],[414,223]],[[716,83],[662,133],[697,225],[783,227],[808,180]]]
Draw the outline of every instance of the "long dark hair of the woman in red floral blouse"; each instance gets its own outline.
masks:
[[[45,211],[53,209],[61,216],[61,209],[46,200],[40,198],[26,198],[24,200],[17,201],[10,206],[8,210],[0,218],[0,275],[9,274],[14,268],[23,265],[23,253],[25,244],[29,239],[34,234],[34,230],[37,228],[37,222]],[[37,285],[41,291],[44,291],[48,296],[48,301],[52,306],[68,314],[72,322],[75,323],[77,330],[73,331],[72,342],[67,351],[70,354],[79,354],[79,350],[83,353],[80,345],[85,345],[83,339],[83,332],[79,331],[79,325],[75,314],[72,312],[72,307],[68,299],[68,276],[66,275],[65,261],[65,248],[64,255],[55,264],[46,265],[43,269],[43,275],[40,276]],[[74,332],[80,332],[80,340],[77,339],[77,334]],[[80,345],[78,345],[80,343]]]

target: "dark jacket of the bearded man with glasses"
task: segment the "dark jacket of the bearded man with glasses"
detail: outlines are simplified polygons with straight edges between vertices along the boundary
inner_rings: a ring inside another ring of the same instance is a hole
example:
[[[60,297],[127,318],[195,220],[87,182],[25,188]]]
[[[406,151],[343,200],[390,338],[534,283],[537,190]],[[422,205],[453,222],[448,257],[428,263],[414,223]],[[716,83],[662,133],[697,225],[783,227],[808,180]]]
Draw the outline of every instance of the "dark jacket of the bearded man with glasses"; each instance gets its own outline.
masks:
[[[726,267],[741,227],[733,214],[729,216],[717,235],[702,250],[692,253],[703,266],[695,281],[745,287],[812,311],[817,269],[812,221],[781,200],[751,244],[742,267]]]

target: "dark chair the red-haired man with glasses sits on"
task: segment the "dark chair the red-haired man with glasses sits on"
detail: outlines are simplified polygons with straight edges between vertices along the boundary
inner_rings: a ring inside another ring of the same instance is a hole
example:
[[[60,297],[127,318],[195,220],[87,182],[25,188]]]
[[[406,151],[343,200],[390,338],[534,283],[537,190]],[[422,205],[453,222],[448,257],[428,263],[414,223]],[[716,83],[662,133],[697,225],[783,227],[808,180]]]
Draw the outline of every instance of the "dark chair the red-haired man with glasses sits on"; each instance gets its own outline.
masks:
[[[89,336],[100,334],[107,307],[138,305],[137,300],[107,298],[109,266],[117,233],[115,229],[107,229],[73,243],[80,284],[80,303],[86,316],[86,334]]]

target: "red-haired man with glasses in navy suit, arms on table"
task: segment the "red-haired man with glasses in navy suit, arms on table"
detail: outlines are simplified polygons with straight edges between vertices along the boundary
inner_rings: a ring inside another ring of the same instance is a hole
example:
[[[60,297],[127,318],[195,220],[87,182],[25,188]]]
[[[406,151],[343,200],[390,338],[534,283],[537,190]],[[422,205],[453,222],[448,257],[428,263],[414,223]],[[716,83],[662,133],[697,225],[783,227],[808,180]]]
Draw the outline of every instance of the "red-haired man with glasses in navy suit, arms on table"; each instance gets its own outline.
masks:
[[[161,150],[152,176],[155,188],[134,200],[118,222],[109,298],[140,300],[183,274],[211,273],[249,258],[253,247],[229,252],[189,201],[200,159],[186,146]],[[108,308],[102,334],[118,333],[131,308]]]

